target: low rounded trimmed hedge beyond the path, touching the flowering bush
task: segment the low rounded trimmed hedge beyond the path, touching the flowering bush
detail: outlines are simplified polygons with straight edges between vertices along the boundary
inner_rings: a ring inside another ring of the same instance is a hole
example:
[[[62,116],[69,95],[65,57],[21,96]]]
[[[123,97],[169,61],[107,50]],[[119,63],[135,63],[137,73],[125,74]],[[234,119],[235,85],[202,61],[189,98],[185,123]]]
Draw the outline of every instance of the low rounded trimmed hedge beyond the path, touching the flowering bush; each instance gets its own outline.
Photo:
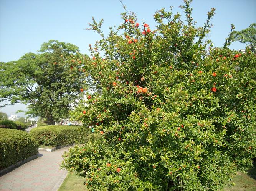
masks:
[[[45,146],[61,146],[86,142],[86,137],[91,129],[80,130],[81,126],[47,125],[31,129],[30,134],[38,141],[38,144]]]

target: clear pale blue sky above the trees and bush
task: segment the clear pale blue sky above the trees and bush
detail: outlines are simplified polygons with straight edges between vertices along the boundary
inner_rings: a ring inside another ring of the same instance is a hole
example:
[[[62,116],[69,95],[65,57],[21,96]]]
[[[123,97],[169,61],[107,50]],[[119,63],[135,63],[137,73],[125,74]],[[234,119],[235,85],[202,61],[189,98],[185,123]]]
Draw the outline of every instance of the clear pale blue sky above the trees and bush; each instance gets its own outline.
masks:
[[[153,15],[160,8],[173,6],[173,12],[182,13],[178,8],[182,0],[122,0],[127,10],[137,14],[139,23],[146,21],[154,29]],[[208,35],[216,47],[221,47],[230,32],[230,24],[236,30],[256,23],[255,0],[194,0],[192,17],[197,26],[202,26],[207,12],[216,8],[212,19],[213,28]],[[119,0],[0,0],[0,61],[18,60],[27,52],[40,49],[43,42],[54,39],[77,45],[81,53],[87,53],[88,45],[100,37],[93,31],[85,30],[92,16],[104,19],[102,30],[108,34],[110,26],[122,23],[120,13],[125,10]],[[244,44],[235,42],[231,49],[243,49]],[[0,108],[10,115],[22,104]]]

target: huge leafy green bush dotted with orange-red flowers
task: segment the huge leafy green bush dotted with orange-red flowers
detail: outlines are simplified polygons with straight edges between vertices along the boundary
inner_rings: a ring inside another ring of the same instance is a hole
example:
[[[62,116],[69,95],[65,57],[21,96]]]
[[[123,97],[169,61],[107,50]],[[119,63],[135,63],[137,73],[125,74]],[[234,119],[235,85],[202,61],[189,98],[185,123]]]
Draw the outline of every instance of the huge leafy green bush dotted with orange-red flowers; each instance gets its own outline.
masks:
[[[91,24],[102,40],[81,69],[99,91],[73,117],[102,136],[70,149],[62,165],[89,189],[218,190],[251,165],[256,56],[213,48],[204,37],[214,9],[196,28],[184,2],[186,21],[162,9],[154,31],[125,13],[107,37],[102,21]]]

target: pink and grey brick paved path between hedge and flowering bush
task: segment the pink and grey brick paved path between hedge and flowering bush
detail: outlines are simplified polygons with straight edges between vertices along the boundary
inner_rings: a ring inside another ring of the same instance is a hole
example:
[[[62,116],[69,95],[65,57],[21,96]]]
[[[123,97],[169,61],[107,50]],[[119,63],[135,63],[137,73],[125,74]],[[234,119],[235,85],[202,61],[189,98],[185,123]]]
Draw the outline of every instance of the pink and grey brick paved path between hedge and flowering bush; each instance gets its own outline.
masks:
[[[59,170],[59,163],[64,151],[70,147],[54,152],[40,151],[40,157],[25,163],[12,172],[0,177],[0,191],[34,191],[58,190],[66,178],[66,170]]]

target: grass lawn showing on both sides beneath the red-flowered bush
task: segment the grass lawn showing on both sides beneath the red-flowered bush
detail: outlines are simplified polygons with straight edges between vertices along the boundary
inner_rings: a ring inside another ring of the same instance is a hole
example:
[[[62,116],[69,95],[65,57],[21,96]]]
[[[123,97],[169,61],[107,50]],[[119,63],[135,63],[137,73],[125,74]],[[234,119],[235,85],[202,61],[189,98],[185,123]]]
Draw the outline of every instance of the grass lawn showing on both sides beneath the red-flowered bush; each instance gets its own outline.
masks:
[[[235,185],[225,186],[225,191],[256,191],[256,167],[248,168],[247,175],[237,172],[235,178],[230,182]],[[84,179],[69,173],[58,191],[88,191],[83,185]]]

